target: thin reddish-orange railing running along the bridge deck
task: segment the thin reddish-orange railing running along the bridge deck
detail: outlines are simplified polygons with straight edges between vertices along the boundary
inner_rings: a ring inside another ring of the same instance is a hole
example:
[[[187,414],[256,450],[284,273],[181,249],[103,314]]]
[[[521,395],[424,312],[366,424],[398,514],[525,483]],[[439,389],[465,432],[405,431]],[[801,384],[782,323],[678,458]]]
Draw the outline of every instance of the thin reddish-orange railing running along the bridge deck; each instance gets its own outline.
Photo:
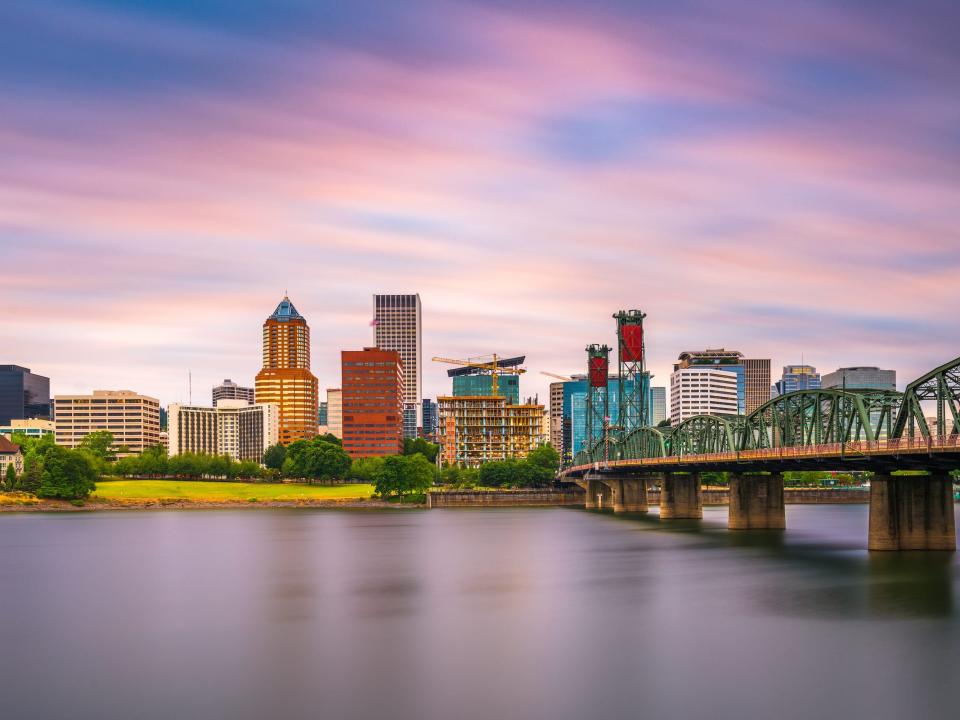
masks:
[[[960,449],[960,434],[930,436],[928,438],[899,438],[882,440],[854,440],[845,443],[823,443],[796,447],[762,448],[735,452],[670,455],[666,457],[611,460],[575,465],[570,470],[585,470],[593,467],[636,467],[638,465],[697,465],[705,462],[755,462],[758,460],[790,460],[802,458],[855,458],[870,455],[897,455],[900,453],[922,454]],[[583,458],[580,458],[581,460]]]

